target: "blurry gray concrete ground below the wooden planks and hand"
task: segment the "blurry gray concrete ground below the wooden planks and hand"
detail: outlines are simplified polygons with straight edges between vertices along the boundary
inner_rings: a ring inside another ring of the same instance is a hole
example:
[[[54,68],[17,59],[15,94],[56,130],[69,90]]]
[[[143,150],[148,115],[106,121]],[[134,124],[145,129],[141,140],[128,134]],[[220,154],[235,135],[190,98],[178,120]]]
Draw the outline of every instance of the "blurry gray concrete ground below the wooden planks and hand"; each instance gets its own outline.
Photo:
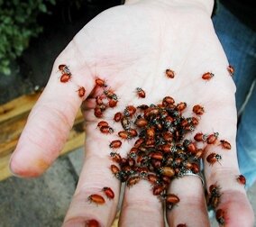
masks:
[[[61,226],[82,163],[83,149],[78,149],[59,158],[39,178],[10,177],[0,182],[0,227]],[[256,184],[248,196],[256,213]],[[214,219],[211,226],[218,226]]]

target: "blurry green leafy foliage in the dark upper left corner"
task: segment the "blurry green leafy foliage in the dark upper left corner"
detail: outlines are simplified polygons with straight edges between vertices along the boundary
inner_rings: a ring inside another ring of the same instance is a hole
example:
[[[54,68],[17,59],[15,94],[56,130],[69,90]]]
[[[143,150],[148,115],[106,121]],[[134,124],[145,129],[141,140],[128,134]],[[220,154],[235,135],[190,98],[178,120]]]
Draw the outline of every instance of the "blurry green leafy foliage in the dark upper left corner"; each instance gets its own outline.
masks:
[[[0,0],[0,73],[11,73],[10,62],[21,56],[32,37],[42,32],[39,14],[56,0]]]

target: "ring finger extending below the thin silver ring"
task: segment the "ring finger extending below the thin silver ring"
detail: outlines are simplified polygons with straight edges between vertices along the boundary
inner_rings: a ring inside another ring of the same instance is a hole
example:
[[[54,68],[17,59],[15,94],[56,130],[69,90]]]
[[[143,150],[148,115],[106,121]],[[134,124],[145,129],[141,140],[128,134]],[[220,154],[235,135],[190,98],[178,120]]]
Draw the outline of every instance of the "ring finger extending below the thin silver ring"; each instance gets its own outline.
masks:
[[[187,226],[210,226],[206,212],[206,199],[201,179],[197,176],[185,176],[174,179],[169,193],[177,195],[178,204],[167,209],[169,226],[187,224]]]

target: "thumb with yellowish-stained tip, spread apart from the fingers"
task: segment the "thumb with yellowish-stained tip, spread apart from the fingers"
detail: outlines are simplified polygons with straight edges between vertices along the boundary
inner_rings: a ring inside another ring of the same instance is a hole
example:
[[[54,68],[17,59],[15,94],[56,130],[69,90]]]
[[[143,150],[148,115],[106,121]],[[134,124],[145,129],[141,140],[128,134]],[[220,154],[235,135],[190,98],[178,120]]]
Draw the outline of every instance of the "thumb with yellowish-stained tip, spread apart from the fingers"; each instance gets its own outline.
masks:
[[[61,83],[59,65],[71,71],[67,83]],[[79,97],[78,88],[86,94]],[[11,171],[21,177],[36,177],[49,168],[69,136],[81,102],[93,89],[94,81],[74,41],[56,59],[48,85],[32,108],[14,154]]]

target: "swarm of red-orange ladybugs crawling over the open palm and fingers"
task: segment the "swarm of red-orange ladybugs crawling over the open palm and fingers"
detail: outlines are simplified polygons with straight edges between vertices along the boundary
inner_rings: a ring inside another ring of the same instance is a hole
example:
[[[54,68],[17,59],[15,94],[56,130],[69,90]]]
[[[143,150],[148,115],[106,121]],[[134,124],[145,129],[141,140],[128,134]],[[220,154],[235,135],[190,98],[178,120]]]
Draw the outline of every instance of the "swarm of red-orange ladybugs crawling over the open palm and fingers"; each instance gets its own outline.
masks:
[[[69,68],[60,65],[59,70],[62,72],[60,81],[68,82],[71,77]],[[233,68],[229,66],[227,70],[233,76]],[[165,73],[168,78],[175,77],[175,72],[171,69],[166,69]],[[213,73],[206,72],[202,78],[210,80],[214,76]],[[94,114],[97,118],[102,118],[107,107],[116,106],[118,98],[114,91],[108,88],[104,79],[96,78],[96,87],[102,89],[102,94],[96,96]],[[136,88],[136,93],[140,98],[146,96],[141,87]],[[149,181],[152,194],[159,196],[168,209],[179,202],[178,195],[167,193],[171,180],[175,177],[183,177],[187,172],[194,174],[200,172],[198,163],[206,152],[197,146],[198,143],[215,144],[224,150],[231,150],[231,144],[228,141],[218,139],[218,132],[210,134],[198,132],[193,141],[185,139],[188,132],[195,131],[199,117],[205,113],[204,107],[196,104],[192,109],[193,116],[185,117],[182,113],[186,108],[185,102],[175,104],[172,97],[166,96],[160,104],[141,104],[136,107],[127,105],[123,112],[115,113],[113,118],[115,123],[121,123],[123,130],[117,133],[120,139],[111,141],[109,144],[109,148],[112,149],[110,158],[114,161],[110,167],[112,173],[121,182],[126,182],[128,187],[136,185],[141,180]],[[114,129],[105,121],[97,123],[97,128],[104,134],[114,133]],[[137,140],[128,151],[127,157],[121,157],[117,150],[122,147],[123,141],[135,138]],[[221,159],[221,155],[215,152],[206,157],[209,165],[215,165]],[[240,175],[236,179],[240,184],[245,185],[245,177]],[[104,187],[102,191],[107,198],[114,198],[114,192],[110,187]],[[210,186],[208,191],[207,204],[216,210],[222,195],[221,187],[215,184]],[[105,204],[103,195],[93,194],[87,199],[90,203]],[[216,210],[215,216],[224,226],[224,210]],[[87,226],[99,226],[99,223],[92,219],[87,221]],[[177,227],[186,226],[186,223],[177,225]]]

